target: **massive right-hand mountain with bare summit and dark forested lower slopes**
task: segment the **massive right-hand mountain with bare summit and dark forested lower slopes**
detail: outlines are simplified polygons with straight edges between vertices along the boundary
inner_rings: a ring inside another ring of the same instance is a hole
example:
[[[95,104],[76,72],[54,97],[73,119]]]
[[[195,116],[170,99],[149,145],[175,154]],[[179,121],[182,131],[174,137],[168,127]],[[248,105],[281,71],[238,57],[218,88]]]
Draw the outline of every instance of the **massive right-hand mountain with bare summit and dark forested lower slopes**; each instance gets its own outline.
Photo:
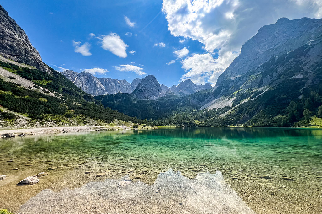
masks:
[[[194,87],[190,81],[180,84],[169,90],[193,92],[188,91]],[[322,117],[322,19],[281,18],[263,26],[242,46],[216,85],[206,87],[186,96],[159,96],[144,105],[133,100],[126,111],[152,118],[158,125],[289,127],[315,123],[314,118]],[[122,109],[119,100],[101,103]]]

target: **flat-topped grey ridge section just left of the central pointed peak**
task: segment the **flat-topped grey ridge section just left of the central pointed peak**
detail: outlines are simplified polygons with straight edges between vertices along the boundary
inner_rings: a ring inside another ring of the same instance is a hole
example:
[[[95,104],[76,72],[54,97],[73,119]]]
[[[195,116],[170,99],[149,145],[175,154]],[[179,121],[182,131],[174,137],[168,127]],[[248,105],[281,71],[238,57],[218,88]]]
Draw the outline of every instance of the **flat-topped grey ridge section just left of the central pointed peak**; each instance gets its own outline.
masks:
[[[132,89],[131,84],[125,79],[112,79],[112,78],[98,78],[100,83],[105,87],[105,91],[109,94],[116,94],[118,92],[131,94],[134,89]]]

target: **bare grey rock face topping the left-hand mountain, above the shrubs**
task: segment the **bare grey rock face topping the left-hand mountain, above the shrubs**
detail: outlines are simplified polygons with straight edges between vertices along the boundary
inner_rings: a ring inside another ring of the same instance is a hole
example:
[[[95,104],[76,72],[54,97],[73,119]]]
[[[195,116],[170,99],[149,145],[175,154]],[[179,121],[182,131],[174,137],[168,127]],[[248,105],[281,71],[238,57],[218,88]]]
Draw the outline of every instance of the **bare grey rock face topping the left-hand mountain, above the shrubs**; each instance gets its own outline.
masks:
[[[32,46],[28,36],[0,5],[0,55],[19,63],[52,73],[39,52]]]

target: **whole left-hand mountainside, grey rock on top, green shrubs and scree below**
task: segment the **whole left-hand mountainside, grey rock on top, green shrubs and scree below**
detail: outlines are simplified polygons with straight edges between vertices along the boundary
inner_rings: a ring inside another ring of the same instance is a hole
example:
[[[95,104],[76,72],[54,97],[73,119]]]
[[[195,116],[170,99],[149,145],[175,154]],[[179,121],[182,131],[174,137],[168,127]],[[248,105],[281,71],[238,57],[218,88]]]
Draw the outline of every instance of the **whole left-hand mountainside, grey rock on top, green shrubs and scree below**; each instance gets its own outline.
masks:
[[[2,7],[0,16],[3,31],[0,34],[0,52],[5,53],[0,57],[1,128],[104,126],[115,120],[144,123],[143,120],[102,107],[67,77],[47,67],[41,62],[24,31]],[[10,36],[16,36],[16,41],[12,42],[14,37]],[[14,56],[12,53],[21,55]],[[66,73],[74,80],[87,78],[88,81],[94,81],[85,72]]]

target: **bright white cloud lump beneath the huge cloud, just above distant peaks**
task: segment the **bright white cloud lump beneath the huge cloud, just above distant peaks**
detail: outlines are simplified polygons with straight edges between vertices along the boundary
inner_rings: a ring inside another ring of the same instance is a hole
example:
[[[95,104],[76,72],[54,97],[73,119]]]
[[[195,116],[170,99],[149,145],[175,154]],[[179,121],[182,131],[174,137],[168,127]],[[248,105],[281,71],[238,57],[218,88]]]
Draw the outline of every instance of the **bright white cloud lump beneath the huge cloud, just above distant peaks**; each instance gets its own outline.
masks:
[[[181,80],[191,79],[195,84],[216,83],[227,62],[233,60],[237,55],[237,53],[226,52],[214,59],[210,53],[194,54],[181,61],[182,68],[186,71]]]

